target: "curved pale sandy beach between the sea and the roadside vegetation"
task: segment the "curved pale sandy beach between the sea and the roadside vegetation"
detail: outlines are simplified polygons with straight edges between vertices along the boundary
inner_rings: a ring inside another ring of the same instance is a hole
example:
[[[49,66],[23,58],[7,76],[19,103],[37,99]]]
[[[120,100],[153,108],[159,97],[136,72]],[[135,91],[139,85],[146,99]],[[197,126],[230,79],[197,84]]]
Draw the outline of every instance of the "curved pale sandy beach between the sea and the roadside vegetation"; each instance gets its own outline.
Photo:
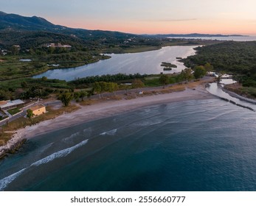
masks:
[[[17,146],[20,146],[27,139],[58,129],[82,124],[87,121],[94,121],[100,118],[120,115],[156,104],[215,98],[215,96],[208,93],[205,88],[199,85],[196,89],[186,88],[186,90],[183,91],[141,96],[136,99],[109,100],[98,104],[80,106],[80,109],[75,112],[66,113],[54,119],[42,121],[39,124],[16,130],[13,138],[11,138],[6,145],[0,146],[0,159],[6,156],[7,153],[13,153],[17,149]]]

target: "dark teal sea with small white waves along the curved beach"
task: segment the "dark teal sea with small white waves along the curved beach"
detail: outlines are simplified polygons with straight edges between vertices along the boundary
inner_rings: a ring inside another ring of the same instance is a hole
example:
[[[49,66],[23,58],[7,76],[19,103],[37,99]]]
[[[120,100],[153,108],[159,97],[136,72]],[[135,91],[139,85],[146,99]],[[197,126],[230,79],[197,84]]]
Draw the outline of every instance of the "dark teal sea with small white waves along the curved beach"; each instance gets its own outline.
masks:
[[[256,191],[255,113],[220,99],[158,104],[24,144],[4,191]]]

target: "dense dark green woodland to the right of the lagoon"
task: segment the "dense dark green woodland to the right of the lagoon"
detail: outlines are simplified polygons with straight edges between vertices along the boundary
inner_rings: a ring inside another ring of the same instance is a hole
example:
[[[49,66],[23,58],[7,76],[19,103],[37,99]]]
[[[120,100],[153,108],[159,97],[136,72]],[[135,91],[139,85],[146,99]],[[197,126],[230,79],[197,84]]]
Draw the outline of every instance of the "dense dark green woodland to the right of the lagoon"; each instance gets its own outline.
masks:
[[[215,71],[234,74],[243,88],[236,90],[256,97],[256,41],[218,43],[198,47],[195,56],[187,57],[185,65],[194,67],[210,63]]]

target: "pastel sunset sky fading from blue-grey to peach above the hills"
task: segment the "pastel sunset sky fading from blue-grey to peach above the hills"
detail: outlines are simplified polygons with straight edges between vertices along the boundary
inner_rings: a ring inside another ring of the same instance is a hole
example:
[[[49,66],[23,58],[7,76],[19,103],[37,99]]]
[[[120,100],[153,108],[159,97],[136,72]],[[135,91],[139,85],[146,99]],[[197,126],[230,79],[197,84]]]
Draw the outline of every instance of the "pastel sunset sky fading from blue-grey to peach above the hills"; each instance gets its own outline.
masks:
[[[256,35],[255,8],[255,0],[8,0],[0,10],[72,28]]]

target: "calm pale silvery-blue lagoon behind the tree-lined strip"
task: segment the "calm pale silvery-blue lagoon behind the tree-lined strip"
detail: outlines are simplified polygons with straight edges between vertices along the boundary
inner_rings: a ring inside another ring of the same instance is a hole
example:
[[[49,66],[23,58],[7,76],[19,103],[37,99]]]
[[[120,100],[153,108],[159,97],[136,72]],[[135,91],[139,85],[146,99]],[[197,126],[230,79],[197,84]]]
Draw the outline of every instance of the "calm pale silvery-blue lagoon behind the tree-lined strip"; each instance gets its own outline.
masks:
[[[108,60],[100,60],[97,63],[83,65],[77,68],[65,68],[46,71],[34,78],[47,77],[48,79],[63,79],[70,81],[76,78],[103,75],[103,74],[160,74],[163,72],[162,62],[173,63],[178,68],[164,73],[180,72],[184,69],[183,63],[176,57],[185,58],[196,54],[193,48],[197,46],[166,46],[155,51],[146,51],[131,54],[109,54]]]

